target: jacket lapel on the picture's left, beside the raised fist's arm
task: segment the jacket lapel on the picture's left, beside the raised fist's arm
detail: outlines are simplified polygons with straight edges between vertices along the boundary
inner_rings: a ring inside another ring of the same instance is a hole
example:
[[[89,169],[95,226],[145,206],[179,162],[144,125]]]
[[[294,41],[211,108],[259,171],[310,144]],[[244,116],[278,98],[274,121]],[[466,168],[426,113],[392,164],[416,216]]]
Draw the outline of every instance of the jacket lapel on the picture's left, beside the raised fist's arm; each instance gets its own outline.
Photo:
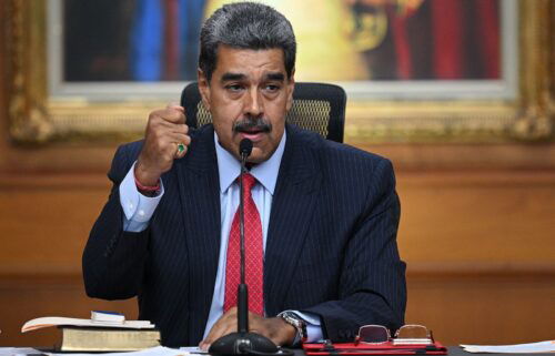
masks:
[[[189,251],[190,340],[202,339],[214,293],[220,254],[220,182],[212,126],[200,129],[184,159],[176,161]],[[193,335],[196,330],[196,334]]]

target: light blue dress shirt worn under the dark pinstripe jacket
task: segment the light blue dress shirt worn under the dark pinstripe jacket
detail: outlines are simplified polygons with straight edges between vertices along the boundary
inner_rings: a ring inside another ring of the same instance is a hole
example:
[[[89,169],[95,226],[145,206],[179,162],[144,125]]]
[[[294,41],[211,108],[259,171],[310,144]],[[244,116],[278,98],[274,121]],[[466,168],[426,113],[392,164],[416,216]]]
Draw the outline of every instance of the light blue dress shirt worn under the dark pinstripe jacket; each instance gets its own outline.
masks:
[[[282,140],[272,156],[251,169],[251,174],[260,184],[255,184],[252,189],[252,199],[259,210],[263,247],[266,247],[268,226],[270,223],[270,212],[272,208],[272,197],[274,194],[278,173],[280,170],[283,150],[285,149],[286,134],[283,133]],[[218,273],[214,284],[214,295],[210,314],[204,329],[204,337],[208,336],[214,323],[223,314],[223,301],[225,294],[225,257],[228,254],[228,238],[230,235],[231,223],[239,205],[240,189],[235,182],[241,172],[240,162],[218,142],[218,135],[214,133],[215,153],[218,157],[218,170],[220,173],[220,206],[221,206],[221,238],[220,238],[220,256],[218,262]],[[135,162],[137,163],[137,162]],[[141,232],[149,225],[160,200],[164,194],[163,182],[160,184],[160,194],[154,197],[144,196],[137,190],[134,183],[134,164],[128,172],[120,184],[120,203],[123,208],[123,230],[128,232]],[[295,311],[293,311],[295,312]],[[306,323],[306,332],[309,342],[315,342],[322,338],[321,322],[317,315],[310,313],[299,313]]]

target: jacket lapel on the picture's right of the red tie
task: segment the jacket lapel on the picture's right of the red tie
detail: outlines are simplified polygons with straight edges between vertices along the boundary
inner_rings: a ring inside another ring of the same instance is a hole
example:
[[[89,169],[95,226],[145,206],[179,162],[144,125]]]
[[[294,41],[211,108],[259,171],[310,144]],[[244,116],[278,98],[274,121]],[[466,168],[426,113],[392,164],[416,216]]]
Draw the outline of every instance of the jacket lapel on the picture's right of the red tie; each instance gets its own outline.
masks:
[[[272,212],[264,260],[264,297],[268,315],[281,312],[302,251],[321,174],[317,160],[296,129],[287,126]],[[292,263],[293,262],[293,263]]]

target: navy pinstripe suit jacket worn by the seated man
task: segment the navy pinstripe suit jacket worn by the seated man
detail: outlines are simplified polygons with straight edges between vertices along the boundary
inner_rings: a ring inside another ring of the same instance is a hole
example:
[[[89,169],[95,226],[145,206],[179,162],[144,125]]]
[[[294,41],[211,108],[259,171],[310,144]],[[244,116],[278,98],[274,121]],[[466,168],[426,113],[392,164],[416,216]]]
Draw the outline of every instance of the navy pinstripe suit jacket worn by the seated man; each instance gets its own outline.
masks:
[[[264,258],[269,316],[321,316],[324,336],[404,321],[405,264],[396,232],[400,204],[390,161],[287,125]],[[83,253],[91,297],[139,297],[139,317],[164,345],[196,345],[209,316],[220,248],[220,189],[213,126],[191,133],[186,155],[163,176],[165,194],[149,228],[122,231],[119,184],[142,142],[118,149],[113,187]]]

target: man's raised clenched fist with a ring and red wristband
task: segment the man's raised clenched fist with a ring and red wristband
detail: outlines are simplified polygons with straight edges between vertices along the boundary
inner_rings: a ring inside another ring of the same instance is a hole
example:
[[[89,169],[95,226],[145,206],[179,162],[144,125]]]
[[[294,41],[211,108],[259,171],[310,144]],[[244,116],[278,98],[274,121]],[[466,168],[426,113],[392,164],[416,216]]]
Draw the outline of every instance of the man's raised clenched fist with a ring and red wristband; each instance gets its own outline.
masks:
[[[186,153],[191,143],[185,125],[185,110],[178,104],[150,113],[144,144],[135,164],[135,179],[142,185],[154,186],[162,173],[168,172],[174,159]],[[181,145],[182,151],[178,149]]]

